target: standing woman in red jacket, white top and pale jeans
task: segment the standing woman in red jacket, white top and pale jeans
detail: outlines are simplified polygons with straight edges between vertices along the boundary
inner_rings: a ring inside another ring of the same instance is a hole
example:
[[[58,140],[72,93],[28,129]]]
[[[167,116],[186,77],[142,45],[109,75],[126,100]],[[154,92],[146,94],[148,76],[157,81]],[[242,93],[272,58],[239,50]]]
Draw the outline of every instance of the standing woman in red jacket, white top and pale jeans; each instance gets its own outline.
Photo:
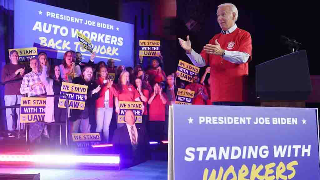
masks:
[[[108,70],[105,66],[101,66],[99,70],[100,78],[96,83],[101,87],[99,98],[96,101],[97,108],[97,128],[96,132],[102,132],[106,143],[109,140],[109,126],[113,113],[113,98],[115,95],[115,88],[113,81],[108,79]]]

